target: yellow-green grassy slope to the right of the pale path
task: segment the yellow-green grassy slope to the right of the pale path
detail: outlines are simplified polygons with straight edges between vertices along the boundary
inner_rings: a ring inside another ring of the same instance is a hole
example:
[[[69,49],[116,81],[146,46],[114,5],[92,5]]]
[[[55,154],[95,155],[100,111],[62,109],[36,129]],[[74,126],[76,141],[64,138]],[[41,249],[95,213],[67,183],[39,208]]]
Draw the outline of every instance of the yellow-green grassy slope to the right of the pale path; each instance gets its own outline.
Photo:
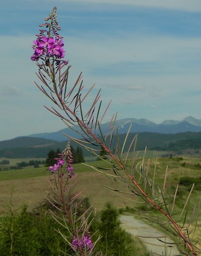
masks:
[[[146,164],[145,164],[145,169],[146,169],[148,159],[145,160],[145,162],[146,162]],[[153,179],[155,162],[156,162],[156,159],[150,159],[150,168],[149,168],[148,176],[151,180]],[[141,165],[141,160],[138,160],[138,163],[136,164],[136,170],[138,169],[136,176],[139,175],[140,165]],[[191,156],[188,156],[188,155],[183,156],[182,155],[182,156],[176,156],[176,157],[172,157],[172,158],[170,158],[170,157],[169,158],[157,158],[156,177],[155,177],[157,186],[155,185],[155,191],[157,191],[157,190],[160,191],[160,189],[162,190],[162,188],[163,188],[164,177],[165,177],[165,172],[166,172],[167,166],[168,166],[168,176],[166,179],[164,195],[166,198],[167,205],[170,205],[172,207],[174,193],[175,193],[177,184],[179,184],[179,182],[180,182],[180,178],[188,177],[190,180],[190,178],[192,178],[192,177],[196,178],[196,179],[199,179],[201,177],[201,160],[200,160],[199,156],[197,158],[192,155]],[[185,202],[189,195],[191,187],[192,187],[192,185],[190,185],[190,186],[179,185],[179,187],[178,187],[176,200],[175,200],[175,206],[174,206],[174,212],[177,213],[174,216],[175,220],[178,220],[180,214],[182,213],[183,207],[185,205]],[[170,201],[169,201],[169,193],[171,195]],[[197,211],[197,209],[198,209],[200,198],[201,198],[200,188],[199,188],[199,190],[197,190],[196,186],[194,186],[194,190],[193,190],[191,198],[190,198],[190,203],[189,203],[189,205],[187,204],[186,208],[185,208],[185,209],[188,209],[188,211],[187,211],[187,216],[186,216],[186,223],[184,225],[184,229],[185,229],[185,227],[190,223],[191,216],[192,216],[193,210],[194,210],[194,206],[196,205],[195,215],[194,215],[192,223],[190,224],[189,230],[192,232],[192,234],[190,234],[191,239],[194,241],[198,241],[197,246],[199,248],[201,248],[201,209],[199,211]],[[142,208],[142,210],[145,210],[145,211],[151,210],[150,208],[146,208],[146,207],[145,207],[145,209],[143,209],[143,207],[140,205],[138,205],[138,206],[133,205],[133,207],[138,208],[138,209]],[[157,214],[155,214],[154,212],[152,212],[151,215],[152,215],[152,217],[157,216]],[[198,216],[198,222],[197,222],[197,225],[195,228],[195,222],[196,222],[197,216]],[[185,211],[183,212],[183,215],[181,217],[180,226],[183,226],[184,217],[185,217]],[[161,231],[163,230],[157,224],[153,224],[150,222],[147,222],[147,223],[157,227],[158,229],[161,229]],[[195,233],[194,233],[194,231],[195,231]]]

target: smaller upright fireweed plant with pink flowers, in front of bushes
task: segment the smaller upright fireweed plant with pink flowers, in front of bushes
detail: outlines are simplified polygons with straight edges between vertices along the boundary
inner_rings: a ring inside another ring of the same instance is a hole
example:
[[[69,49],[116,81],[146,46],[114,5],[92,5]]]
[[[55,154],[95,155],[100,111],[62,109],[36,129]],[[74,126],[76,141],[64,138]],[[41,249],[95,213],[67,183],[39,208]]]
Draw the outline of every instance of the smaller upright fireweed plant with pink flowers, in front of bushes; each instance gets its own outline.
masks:
[[[71,185],[75,173],[72,166],[73,157],[70,142],[68,142],[63,153],[58,154],[58,158],[55,158],[55,160],[57,160],[57,163],[49,167],[51,193],[48,193],[47,199],[57,210],[63,212],[63,218],[61,218],[61,216],[51,211],[53,218],[68,230],[70,237],[72,237],[71,241],[60,230],[57,231],[72,248],[72,253],[69,255],[101,255],[101,252],[95,253],[91,240],[89,231],[91,222],[88,224],[90,213],[88,218],[85,218],[85,214],[90,208],[81,216],[77,216],[76,208],[82,200],[77,203],[76,199],[82,191],[74,192],[77,183]],[[68,255],[66,252],[63,253]]]

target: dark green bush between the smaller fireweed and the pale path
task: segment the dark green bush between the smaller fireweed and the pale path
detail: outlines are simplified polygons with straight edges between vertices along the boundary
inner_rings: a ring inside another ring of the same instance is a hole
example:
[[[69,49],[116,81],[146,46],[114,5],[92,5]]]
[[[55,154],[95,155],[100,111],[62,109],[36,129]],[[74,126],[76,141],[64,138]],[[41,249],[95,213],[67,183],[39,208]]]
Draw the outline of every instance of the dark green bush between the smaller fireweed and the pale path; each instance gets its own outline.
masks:
[[[133,237],[121,228],[119,212],[109,202],[106,203],[105,209],[101,211],[100,218],[96,217],[94,219],[91,230],[92,233],[98,230],[94,240],[100,235],[102,236],[96,245],[96,250],[101,250],[103,254],[107,253],[107,256],[149,255],[139,238],[135,238],[134,241]]]

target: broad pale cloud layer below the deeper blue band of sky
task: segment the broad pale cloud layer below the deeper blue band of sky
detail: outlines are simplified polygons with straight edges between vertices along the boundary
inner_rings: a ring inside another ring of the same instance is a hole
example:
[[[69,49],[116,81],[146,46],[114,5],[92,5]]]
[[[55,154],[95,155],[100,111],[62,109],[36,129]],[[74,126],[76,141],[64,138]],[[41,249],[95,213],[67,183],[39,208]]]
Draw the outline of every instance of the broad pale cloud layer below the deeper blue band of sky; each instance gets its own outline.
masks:
[[[30,61],[33,39],[33,36],[1,37],[1,90],[10,88],[10,91],[4,93],[20,92],[18,97],[13,97],[12,102],[8,102],[5,96],[0,94],[1,120],[6,120],[1,123],[0,130],[2,134],[6,134],[10,129],[9,134],[13,134],[7,138],[56,131],[64,127],[58,118],[42,107],[52,104],[33,83],[34,80],[38,81],[34,74],[37,67]],[[182,99],[181,93],[189,92],[190,96],[191,90],[200,89],[201,64],[199,61],[192,64],[195,68],[191,70],[188,63],[201,53],[201,38],[139,34],[114,38],[83,32],[80,37],[67,36],[66,39],[66,58],[70,59],[73,65],[69,86],[83,70],[86,87],[97,83],[95,90],[98,91],[102,87],[104,104],[112,99],[109,116],[111,112],[118,110],[118,119],[135,117],[162,122],[164,119],[174,119],[174,115],[175,119],[178,119],[176,117],[180,115],[175,112],[181,112],[183,107],[179,105],[186,101]],[[119,72],[111,74],[107,71],[109,67],[117,71],[119,69]],[[186,101],[186,109],[188,107],[189,111],[183,109],[182,118],[194,114],[200,118],[200,108],[195,107],[196,102],[193,102],[193,99],[192,97],[189,107],[190,102]],[[153,111],[154,106],[158,106],[158,109]],[[151,110],[156,113],[155,119]],[[167,118],[167,115],[170,118]],[[12,120],[16,120],[16,123],[8,129]]]

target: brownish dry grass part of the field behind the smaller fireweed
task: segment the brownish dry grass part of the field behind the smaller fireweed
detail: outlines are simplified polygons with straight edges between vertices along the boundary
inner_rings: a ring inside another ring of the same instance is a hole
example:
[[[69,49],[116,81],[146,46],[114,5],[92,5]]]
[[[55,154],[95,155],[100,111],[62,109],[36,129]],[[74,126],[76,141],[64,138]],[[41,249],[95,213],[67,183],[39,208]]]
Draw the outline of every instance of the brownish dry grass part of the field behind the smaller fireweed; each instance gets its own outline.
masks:
[[[12,171],[7,171],[12,172]],[[0,181],[0,215],[6,214],[5,206],[9,206],[11,188],[13,187],[13,206],[17,209],[21,204],[27,204],[28,210],[40,204],[46,197],[48,190],[48,176],[21,178]],[[77,190],[83,190],[82,197],[89,197],[90,202],[97,211],[100,211],[106,201],[111,201],[116,207],[125,207],[124,199],[115,195],[109,187],[125,190],[124,184],[108,179],[97,171],[77,173],[75,181],[80,180]],[[129,203],[129,200],[125,202]]]

